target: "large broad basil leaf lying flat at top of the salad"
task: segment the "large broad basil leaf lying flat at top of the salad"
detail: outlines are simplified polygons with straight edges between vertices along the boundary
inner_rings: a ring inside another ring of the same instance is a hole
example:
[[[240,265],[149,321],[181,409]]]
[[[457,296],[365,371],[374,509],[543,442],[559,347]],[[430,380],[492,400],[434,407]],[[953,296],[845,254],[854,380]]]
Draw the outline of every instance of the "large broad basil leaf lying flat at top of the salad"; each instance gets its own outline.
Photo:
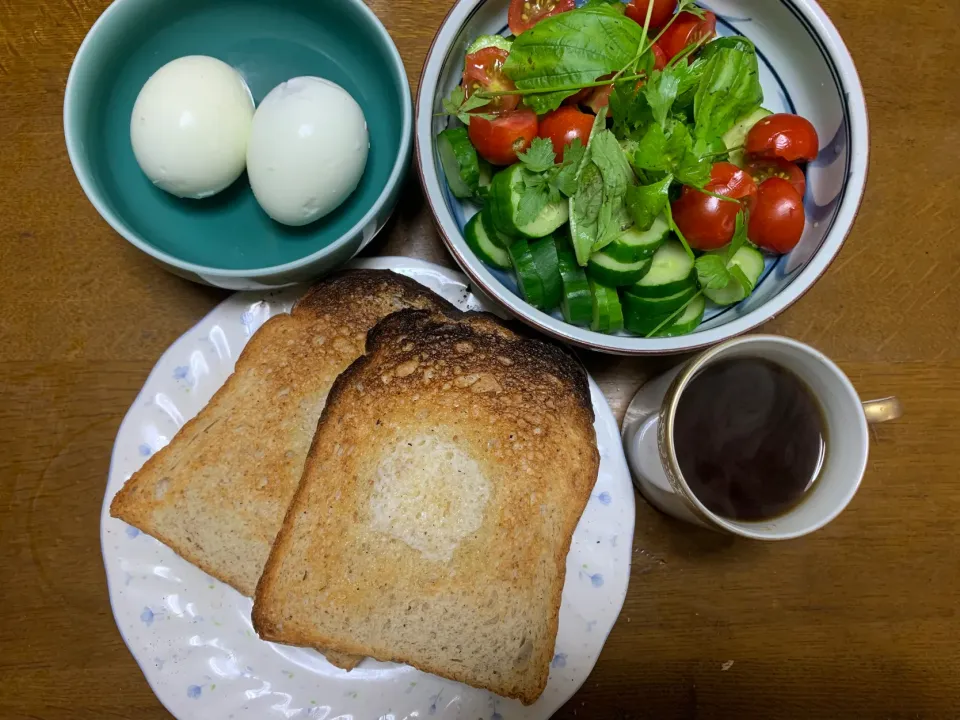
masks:
[[[556,110],[576,90],[619,71],[633,60],[643,28],[622,10],[591,4],[541,20],[514,40],[503,71],[527,95],[524,102],[538,115]]]

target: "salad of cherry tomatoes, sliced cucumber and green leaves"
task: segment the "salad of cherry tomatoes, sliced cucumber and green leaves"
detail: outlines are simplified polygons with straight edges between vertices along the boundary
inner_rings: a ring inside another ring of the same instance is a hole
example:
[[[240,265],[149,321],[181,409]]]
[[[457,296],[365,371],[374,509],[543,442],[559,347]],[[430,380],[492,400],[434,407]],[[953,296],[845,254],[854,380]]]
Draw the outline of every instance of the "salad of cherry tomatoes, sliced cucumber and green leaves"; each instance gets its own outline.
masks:
[[[437,149],[482,205],[468,245],[527,302],[683,335],[800,241],[816,130],[764,109],[753,43],[716,23],[692,0],[512,0],[511,35],[468,47]]]

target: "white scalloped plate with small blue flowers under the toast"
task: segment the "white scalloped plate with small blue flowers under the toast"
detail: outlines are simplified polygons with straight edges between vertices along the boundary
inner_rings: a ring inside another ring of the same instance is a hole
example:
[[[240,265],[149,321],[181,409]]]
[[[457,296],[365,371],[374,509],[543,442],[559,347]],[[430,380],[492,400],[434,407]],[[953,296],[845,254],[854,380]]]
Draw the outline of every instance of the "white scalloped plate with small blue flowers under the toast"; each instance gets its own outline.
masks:
[[[435,265],[409,258],[357,265],[395,270],[462,309],[484,309],[462,275]],[[528,708],[404,665],[367,659],[346,673],[311,650],[263,642],[249,598],[110,517],[124,481],[207,403],[250,335],[301,292],[239,293],[223,302],[164,353],[120,426],[100,539],[114,617],[147,681],[181,720],[549,718],[593,669],[630,576],[633,486],[616,420],[592,379],[600,474],[567,557],[550,681]]]

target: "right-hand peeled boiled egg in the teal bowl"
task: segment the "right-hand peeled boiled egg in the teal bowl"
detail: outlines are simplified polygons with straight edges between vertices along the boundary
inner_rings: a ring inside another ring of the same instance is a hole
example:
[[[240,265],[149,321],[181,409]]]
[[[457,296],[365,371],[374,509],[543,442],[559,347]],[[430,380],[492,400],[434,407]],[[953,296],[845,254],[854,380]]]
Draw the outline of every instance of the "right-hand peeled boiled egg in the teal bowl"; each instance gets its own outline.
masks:
[[[321,78],[293,78],[257,108],[247,175],[267,215],[307,225],[356,190],[369,148],[363,110],[350,93]]]

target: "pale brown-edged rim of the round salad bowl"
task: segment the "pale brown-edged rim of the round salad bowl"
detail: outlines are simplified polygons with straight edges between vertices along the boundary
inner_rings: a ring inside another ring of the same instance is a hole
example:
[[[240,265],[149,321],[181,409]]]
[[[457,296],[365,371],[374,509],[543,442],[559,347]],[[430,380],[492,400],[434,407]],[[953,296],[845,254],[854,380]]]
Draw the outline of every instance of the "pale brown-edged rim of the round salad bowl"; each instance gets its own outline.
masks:
[[[806,20],[810,32],[822,44],[822,50],[836,68],[841,94],[845,95],[850,124],[850,167],[846,193],[834,227],[796,278],[780,293],[760,307],[710,330],[677,338],[640,338],[605,335],[587,328],[569,325],[544,313],[518,295],[504,288],[483,264],[472,257],[466,241],[446,204],[440,197],[440,179],[433,162],[432,110],[437,83],[450,45],[462,24],[487,0],[457,0],[440,25],[424,60],[416,99],[415,145],[417,172],[434,222],[447,249],[464,273],[481,290],[504,305],[514,316],[535,329],[562,342],[597,352],[616,355],[645,356],[692,352],[742,335],[773,320],[791,307],[812,288],[836,260],[840,249],[853,229],[863,202],[870,156],[870,127],[863,86],[850,50],[836,26],[816,0],[781,0],[795,14]],[[455,25],[455,27],[451,27]],[[444,38],[441,47],[440,40]],[[435,188],[435,192],[431,192]],[[454,228],[451,232],[451,228]]]

